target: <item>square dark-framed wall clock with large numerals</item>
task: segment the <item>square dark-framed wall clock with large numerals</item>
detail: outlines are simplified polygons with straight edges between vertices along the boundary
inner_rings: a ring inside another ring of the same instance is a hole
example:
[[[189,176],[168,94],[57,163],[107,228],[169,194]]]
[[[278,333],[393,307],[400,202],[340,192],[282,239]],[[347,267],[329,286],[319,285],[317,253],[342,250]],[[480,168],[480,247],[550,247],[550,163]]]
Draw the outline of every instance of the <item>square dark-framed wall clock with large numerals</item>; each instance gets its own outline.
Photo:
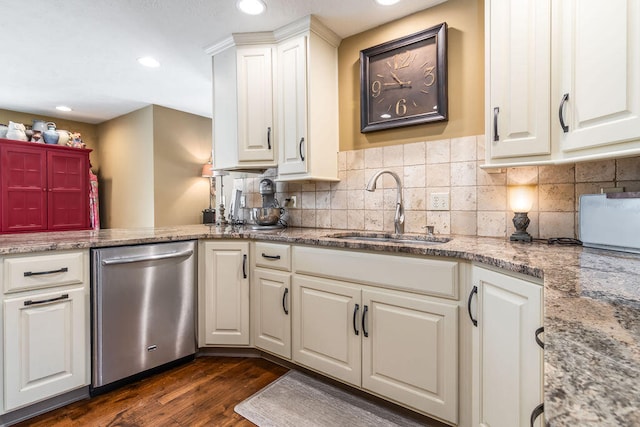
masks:
[[[447,23],[360,51],[360,131],[447,120]]]

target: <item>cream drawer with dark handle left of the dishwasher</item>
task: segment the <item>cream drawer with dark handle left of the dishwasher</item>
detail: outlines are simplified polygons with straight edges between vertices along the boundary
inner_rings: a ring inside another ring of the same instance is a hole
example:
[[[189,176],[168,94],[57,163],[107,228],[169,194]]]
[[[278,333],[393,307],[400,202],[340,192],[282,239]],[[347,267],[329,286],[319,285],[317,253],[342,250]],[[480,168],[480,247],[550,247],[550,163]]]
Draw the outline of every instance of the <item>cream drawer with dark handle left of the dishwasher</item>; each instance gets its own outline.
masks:
[[[88,267],[81,251],[11,257],[3,264],[5,293],[82,284]]]

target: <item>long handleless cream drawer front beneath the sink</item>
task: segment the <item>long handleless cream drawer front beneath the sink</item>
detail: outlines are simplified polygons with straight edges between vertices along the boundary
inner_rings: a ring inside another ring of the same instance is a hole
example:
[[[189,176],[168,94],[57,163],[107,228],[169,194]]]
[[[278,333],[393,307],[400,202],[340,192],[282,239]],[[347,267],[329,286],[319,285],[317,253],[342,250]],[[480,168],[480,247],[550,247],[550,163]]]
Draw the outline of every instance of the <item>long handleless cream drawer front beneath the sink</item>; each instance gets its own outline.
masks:
[[[296,273],[458,298],[458,262],[413,256],[294,247]]]

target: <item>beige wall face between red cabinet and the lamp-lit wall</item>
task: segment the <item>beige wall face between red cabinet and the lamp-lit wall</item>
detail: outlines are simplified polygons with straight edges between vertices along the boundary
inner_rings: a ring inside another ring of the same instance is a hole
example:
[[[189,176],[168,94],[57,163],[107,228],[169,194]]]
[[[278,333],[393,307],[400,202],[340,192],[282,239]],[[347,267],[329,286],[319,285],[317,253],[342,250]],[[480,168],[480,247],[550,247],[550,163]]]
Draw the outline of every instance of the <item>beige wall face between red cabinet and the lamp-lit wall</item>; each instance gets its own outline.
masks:
[[[153,227],[153,106],[98,125],[102,228]]]

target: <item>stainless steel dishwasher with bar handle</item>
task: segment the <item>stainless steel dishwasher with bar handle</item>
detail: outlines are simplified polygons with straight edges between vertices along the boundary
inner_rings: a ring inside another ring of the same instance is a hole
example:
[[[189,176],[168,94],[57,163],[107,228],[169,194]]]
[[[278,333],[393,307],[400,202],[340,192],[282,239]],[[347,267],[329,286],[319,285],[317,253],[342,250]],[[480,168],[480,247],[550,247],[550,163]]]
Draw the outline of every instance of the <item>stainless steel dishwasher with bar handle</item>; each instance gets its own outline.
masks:
[[[193,357],[195,242],[93,249],[92,394]]]

